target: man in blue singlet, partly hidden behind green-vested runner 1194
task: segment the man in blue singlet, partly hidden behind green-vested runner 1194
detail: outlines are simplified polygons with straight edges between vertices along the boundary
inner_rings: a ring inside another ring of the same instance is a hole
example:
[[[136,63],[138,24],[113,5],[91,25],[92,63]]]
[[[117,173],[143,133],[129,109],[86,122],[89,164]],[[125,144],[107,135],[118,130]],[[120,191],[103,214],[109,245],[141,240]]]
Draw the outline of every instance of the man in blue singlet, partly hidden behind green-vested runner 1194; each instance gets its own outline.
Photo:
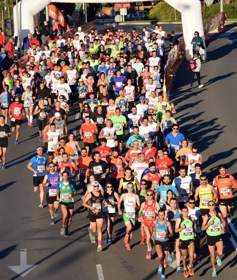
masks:
[[[171,190],[168,190],[167,192],[171,192]],[[182,272],[181,268],[180,268],[180,248],[179,248],[179,243],[180,243],[180,235],[179,233],[175,232],[175,223],[176,220],[180,217],[181,215],[181,211],[177,208],[177,199],[176,198],[171,198],[170,199],[170,209],[166,210],[166,217],[168,219],[168,221],[171,222],[171,226],[172,226],[172,230],[174,235],[169,238],[169,250],[168,250],[168,262],[170,264],[173,263],[173,258],[172,258],[172,254],[175,251],[175,257],[176,257],[176,263],[177,263],[177,267],[176,267],[176,271],[177,272]]]

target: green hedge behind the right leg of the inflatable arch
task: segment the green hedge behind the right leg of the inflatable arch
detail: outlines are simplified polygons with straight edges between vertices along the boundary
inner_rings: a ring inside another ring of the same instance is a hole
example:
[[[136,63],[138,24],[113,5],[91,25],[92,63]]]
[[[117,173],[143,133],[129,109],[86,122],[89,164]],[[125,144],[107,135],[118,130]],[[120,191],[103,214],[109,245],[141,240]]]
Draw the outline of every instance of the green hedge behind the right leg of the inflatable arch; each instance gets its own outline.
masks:
[[[224,4],[224,12],[227,18],[237,18],[237,4]],[[205,5],[204,19],[208,17],[217,15],[220,12],[220,3],[212,4],[210,6]],[[202,6],[203,13],[203,6]],[[166,2],[159,2],[154,8],[150,9],[148,14],[149,20],[162,21],[162,20],[172,20],[175,21],[175,9],[171,7]],[[176,11],[176,20],[181,20],[181,13]]]

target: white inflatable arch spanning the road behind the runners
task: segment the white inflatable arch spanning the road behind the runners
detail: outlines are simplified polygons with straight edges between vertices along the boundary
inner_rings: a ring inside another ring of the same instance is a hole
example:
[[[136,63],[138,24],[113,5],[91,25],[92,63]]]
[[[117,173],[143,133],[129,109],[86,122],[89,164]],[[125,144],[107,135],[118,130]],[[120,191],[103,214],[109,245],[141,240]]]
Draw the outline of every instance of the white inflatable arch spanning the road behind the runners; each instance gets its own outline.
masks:
[[[19,32],[21,42],[23,38],[27,36],[27,33],[34,33],[34,15],[42,11],[51,2],[61,3],[84,3],[84,0],[21,0],[18,2],[19,13]],[[95,0],[87,0],[87,3],[95,3]],[[103,2],[112,3],[117,0],[103,0]],[[121,0],[121,2],[128,2],[127,0]],[[129,2],[136,2],[136,0],[130,0]],[[198,31],[199,35],[204,40],[203,31],[203,19],[201,12],[200,0],[165,0],[169,5],[181,12],[183,34],[185,40],[186,58],[191,59],[193,56],[191,40],[194,37],[194,31]],[[16,6],[13,8],[14,16],[14,30],[15,36],[17,35],[16,26]],[[206,56],[206,54],[205,54]]]

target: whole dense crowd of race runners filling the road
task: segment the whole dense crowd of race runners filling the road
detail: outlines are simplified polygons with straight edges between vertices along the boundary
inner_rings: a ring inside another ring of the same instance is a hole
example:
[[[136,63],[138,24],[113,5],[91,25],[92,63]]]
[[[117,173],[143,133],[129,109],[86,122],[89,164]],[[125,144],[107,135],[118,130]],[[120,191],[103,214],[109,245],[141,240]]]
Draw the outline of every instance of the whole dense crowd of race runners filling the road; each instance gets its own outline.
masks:
[[[194,261],[202,261],[202,232],[212,276],[217,276],[222,239],[231,238],[227,216],[234,214],[232,188],[237,183],[225,164],[216,167],[216,177],[208,183],[198,146],[179,128],[174,104],[164,100],[161,77],[168,35],[162,26],[151,33],[143,27],[140,34],[136,28],[126,32],[114,27],[104,34],[97,29],[84,33],[79,27],[67,40],[49,37],[43,49],[32,43],[29,62],[21,68],[15,63],[0,95],[0,167],[7,169],[13,133],[19,144],[23,116],[30,129],[36,116],[39,145],[27,168],[34,192],[39,189],[39,208],[46,193],[50,225],[61,207],[61,236],[70,236],[74,196],[83,192],[92,235],[98,234],[97,252],[103,250],[103,220],[107,244],[113,243],[117,212],[126,226],[126,250],[131,250],[134,227],[140,223],[144,257],[153,258],[154,246],[162,280],[174,256],[177,273],[194,275]],[[80,113],[74,121],[78,139],[67,127],[72,107]]]

